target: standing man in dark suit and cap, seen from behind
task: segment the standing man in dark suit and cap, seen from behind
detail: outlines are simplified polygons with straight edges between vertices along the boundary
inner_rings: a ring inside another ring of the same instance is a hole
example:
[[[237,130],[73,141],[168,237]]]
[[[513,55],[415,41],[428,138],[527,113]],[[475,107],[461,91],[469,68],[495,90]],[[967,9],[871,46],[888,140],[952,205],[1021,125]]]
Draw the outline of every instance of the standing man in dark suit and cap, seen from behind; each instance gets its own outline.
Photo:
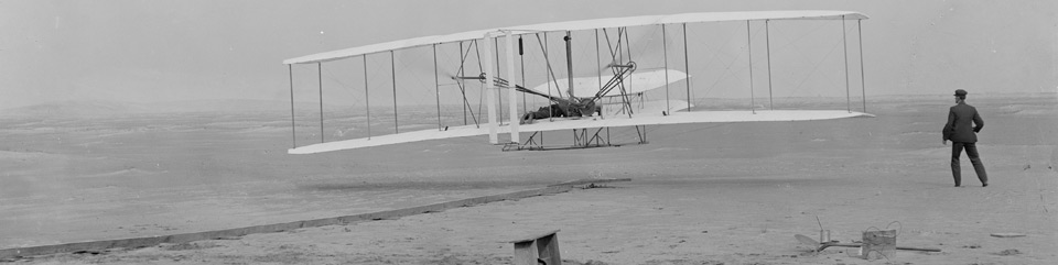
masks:
[[[978,132],[984,128],[984,121],[978,114],[978,109],[967,104],[967,90],[956,89],[956,106],[948,110],[948,123],[944,124],[944,140],[941,142],[948,145],[951,141],[951,176],[956,178],[956,187],[961,185],[959,155],[962,150],[967,150],[967,156],[970,156],[970,163],[973,164],[973,170],[981,179],[981,186],[989,187],[989,175],[984,172],[984,164],[978,156]]]

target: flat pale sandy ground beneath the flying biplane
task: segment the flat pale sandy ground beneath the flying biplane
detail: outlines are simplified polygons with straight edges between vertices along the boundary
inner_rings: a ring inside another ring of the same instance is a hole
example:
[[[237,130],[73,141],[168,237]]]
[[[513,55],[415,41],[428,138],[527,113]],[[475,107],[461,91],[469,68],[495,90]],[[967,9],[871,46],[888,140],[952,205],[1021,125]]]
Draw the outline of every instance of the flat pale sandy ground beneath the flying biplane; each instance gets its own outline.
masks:
[[[509,264],[512,246],[503,242],[559,229],[566,264],[1058,263],[1058,98],[971,99],[986,123],[979,143],[992,179],[986,188],[964,157],[965,187],[951,187],[950,146],[940,144],[939,134],[949,98],[876,99],[868,106],[874,119],[651,128],[647,145],[561,152],[505,153],[460,139],[291,157],[274,154],[289,142],[268,130],[180,137],[165,136],[175,129],[153,136],[132,132],[118,142],[183,141],[183,147],[98,147],[109,154],[101,158],[73,155],[76,148],[63,147],[69,144],[37,141],[20,150],[9,142],[0,162],[22,174],[6,169],[3,177],[24,186],[2,189],[0,238],[12,247],[195,232],[628,177],[633,181],[604,188],[398,220],[18,262]],[[212,150],[208,143],[217,139],[242,146],[236,148],[242,153]],[[188,148],[188,141],[205,144]],[[55,177],[53,184],[33,179],[50,175],[32,163],[54,157],[65,164],[52,175],[69,175],[71,167],[105,174]],[[183,164],[158,165],[155,175],[147,175],[144,168],[158,161]],[[112,170],[117,164],[134,168]],[[170,180],[129,180],[137,178]],[[817,218],[841,242],[889,227],[899,230],[900,246],[942,252],[902,251],[881,261],[852,257],[853,249],[813,254],[794,235],[818,238]],[[990,236],[1002,232],[1026,236]]]

